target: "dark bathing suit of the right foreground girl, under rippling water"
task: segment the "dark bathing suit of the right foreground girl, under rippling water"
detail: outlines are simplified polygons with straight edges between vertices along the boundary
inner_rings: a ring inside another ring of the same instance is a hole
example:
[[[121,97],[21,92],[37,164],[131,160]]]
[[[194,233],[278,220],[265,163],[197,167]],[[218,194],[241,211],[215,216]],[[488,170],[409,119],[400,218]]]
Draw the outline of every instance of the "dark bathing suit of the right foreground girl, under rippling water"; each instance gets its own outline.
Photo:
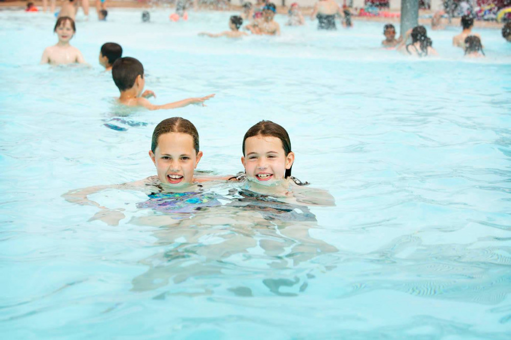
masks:
[[[279,221],[312,221],[316,222],[316,216],[307,206],[277,201],[275,198],[260,195],[248,190],[238,192],[241,197],[233,198],[228,206],[235,206],[245,210],[257,211],[265,220]]]

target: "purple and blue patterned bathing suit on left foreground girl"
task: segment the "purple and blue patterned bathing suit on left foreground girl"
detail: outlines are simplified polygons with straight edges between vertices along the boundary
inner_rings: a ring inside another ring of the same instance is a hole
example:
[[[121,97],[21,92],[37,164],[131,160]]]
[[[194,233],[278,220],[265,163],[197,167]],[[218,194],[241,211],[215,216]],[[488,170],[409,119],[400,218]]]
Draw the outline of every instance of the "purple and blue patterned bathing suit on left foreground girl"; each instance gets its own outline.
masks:
[[[203,192],[152,193],[145,202],[136,204],[137,208],[152,208],[161,213],[186,214],[178,219],[189,218],[189,214],[208,207],[222,205],[219,195]]]

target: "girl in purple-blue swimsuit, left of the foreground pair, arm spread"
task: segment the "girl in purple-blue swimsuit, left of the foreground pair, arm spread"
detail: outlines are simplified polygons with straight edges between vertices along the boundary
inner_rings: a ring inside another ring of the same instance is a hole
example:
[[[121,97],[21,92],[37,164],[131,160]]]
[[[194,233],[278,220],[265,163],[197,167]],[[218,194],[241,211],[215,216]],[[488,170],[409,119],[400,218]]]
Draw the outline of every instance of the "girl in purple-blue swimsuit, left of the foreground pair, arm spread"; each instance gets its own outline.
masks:
[[[94,215],[90,219],[91,221],[101,220],[109,225],[118,225],[119,221],[125,218],[122,208],[107,208],[88,199],[88,196],[103,190],[117,189],[141,191],[147,194],[149,198],[158,200],[167,193],[176,193],[174,196],[169,195],[168,198],[172,199],[174,197],[176,203],[183,203],[182,200],[186,198],[187,194],[191,193],[197,198],[197,193],[200,191],[199,183],[218,179],[195,176],[194,170],[202,158],[202,151],[199,150],[199,134],[192,122],[181,117],[168,118],[156,125],[151,139],[149,157],[156,167],[156,176],[120,185],[75,189],[63,194],[62,197],[71,203],[100,208],[101,211]],[[197,200],[194,200],[194,202],[197,202]],[[157,206],[158,201],[155,203]],[[142,205],[148,207],[147,202]],[[172,212],[169,205],[167,204],[166,209],[168,213]],[[176,209],[179,208],[182,208],[182,206],[176,206]]]

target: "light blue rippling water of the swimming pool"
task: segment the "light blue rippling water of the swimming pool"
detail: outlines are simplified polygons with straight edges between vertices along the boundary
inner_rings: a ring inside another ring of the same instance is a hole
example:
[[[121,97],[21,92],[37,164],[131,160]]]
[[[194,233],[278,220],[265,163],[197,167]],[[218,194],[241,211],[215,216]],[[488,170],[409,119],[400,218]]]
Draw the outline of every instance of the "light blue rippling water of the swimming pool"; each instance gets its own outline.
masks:
[[[379,49],[380,23],[230,41],[196,36],[227,29],[227,12],[177,24],[140,12],[78,16],[72,44],[92,68],[37,65],[54,20],[0,12],[3,338],[508,337],[511,44],[499,31],[476,30],[477,61],[450,46],[457,30],[429,32],[442,57],[417,60]],[[216,97],[125,117],[97,65],[107,41],[142,61],[154,102]],[[197,126],[199,169],[219,174],[241,170],[248,127],[282,124],[293,174],[336,206],[310,207],[309,224],[159,226],[144,222],[147,196],[108,191],[94,198],[127,218],[107,226],[61,197],[155,174],[152,129],[175,115]]]

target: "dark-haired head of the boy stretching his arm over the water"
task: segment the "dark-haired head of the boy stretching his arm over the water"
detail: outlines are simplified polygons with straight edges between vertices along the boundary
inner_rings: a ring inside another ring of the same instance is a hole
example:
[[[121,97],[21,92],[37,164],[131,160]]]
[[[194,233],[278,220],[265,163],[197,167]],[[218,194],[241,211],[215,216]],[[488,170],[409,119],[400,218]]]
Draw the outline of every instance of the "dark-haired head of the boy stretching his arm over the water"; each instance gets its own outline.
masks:
[[[112,78],[121,92],[131,89],[135,83],[138,86],[137,92],[142,93],[144,90],[144,66],[135,58],[124,57],[116,60],[112,65]]]

